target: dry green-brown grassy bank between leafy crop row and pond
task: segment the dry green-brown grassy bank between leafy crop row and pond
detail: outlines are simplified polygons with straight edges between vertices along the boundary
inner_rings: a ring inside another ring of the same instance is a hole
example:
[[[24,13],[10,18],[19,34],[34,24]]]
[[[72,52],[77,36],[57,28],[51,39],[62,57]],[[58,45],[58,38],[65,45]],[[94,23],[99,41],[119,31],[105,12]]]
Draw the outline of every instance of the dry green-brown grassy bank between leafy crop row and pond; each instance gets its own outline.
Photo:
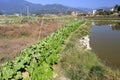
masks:
[[[90,23],[81,26],[71,35],[61,52],[61,69],[70,80],[120,80],[119,70],[112,70],[101,63],[94,52],[79,45],[82,36],[90,33]]]

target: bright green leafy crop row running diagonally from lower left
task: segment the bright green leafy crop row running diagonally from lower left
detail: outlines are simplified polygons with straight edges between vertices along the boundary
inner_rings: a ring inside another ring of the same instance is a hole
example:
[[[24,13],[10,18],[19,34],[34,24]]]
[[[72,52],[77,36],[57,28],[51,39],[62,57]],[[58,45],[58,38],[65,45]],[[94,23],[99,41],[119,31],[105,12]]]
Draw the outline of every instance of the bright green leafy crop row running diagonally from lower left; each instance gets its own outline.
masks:
[[[84,21],[61,27],[42,41],[24,49],[13,61],[2,65],[0,80],[51,80],[53,65],[65,40]]]

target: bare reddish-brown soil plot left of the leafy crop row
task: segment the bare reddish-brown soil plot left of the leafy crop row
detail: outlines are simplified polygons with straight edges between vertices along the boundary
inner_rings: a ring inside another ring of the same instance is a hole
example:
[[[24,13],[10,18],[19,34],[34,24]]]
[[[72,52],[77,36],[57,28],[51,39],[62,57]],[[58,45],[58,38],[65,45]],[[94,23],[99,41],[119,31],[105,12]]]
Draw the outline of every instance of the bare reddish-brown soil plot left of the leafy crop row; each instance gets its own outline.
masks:
[[[0,26],[0,66],[6,60],[13,59],[18,53],[62,25],[62,22],[49,21],[41,23]]]

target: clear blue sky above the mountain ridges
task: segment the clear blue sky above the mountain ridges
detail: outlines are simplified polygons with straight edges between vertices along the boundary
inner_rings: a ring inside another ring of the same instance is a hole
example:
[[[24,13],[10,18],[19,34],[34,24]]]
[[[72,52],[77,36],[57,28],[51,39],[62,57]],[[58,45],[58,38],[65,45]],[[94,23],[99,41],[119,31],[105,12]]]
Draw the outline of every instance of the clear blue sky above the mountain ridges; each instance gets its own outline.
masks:
[[[27,0],[37,4],[62,4],[70,7],[99,8],[113,7],[120,4],[120,0]]]

